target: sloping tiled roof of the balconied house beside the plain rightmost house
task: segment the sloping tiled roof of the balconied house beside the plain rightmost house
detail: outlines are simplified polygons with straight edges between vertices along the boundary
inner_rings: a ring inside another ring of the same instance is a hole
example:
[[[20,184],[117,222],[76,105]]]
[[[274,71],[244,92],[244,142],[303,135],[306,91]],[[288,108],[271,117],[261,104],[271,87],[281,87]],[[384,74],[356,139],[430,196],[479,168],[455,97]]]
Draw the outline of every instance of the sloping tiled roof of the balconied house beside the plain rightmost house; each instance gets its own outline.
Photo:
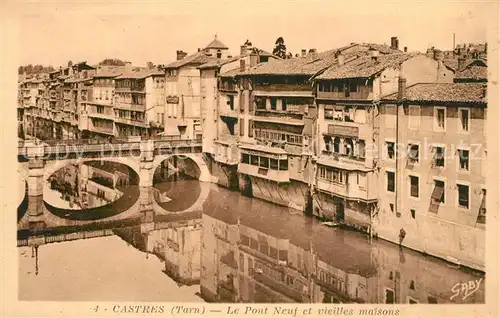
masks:
[[[341,66],[332,65],[317,79],[368,78],[388,67],[400,65],[414,56],[415,54],[409,53],[379,55],[375,61],[370,55],[364,55]]]

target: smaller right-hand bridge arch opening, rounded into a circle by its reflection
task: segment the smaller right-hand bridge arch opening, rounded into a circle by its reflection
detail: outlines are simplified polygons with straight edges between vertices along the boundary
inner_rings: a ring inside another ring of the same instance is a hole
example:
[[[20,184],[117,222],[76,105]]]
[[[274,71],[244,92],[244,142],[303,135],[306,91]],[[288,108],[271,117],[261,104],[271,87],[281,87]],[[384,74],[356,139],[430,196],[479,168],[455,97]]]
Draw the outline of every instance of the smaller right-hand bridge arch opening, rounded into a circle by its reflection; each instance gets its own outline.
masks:
[[[201,169],[189,157],[171,156],[163,160],[153,174],[155,202],[169,212],[192,207],[201,194]]]

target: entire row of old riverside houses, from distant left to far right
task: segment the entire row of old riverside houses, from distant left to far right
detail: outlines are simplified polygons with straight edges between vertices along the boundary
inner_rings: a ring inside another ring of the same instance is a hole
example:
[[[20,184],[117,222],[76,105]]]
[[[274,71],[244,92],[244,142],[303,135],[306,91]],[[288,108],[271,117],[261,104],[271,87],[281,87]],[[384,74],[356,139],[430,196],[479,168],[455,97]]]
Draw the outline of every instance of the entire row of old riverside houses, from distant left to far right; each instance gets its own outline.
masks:
[[[20,120],[45,138],[202,138],[223,186],[483,269],[477,52],[408,52],[393,37],[283,60],[249,41],[232,56],[215,37],[155,70],[79,63],[25,81]]]

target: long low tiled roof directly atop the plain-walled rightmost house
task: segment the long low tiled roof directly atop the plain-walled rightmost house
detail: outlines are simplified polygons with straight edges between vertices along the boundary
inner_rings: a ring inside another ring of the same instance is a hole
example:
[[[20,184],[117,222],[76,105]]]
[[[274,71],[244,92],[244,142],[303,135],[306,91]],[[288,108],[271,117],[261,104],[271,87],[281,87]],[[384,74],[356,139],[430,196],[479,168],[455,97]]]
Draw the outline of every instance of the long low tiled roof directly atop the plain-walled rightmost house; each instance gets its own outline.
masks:
[[[485,103],[486,85],[482,83],[419,83],[406,88],[407,101]],[[382,100],[397,100],[398,93]]]

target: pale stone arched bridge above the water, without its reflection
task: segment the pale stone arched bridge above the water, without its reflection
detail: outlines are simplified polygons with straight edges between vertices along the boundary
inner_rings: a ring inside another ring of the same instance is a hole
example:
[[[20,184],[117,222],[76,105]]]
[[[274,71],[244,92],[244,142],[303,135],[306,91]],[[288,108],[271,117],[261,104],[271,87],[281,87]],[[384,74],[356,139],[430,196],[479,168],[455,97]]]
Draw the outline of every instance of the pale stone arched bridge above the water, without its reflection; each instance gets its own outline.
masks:
[[[21,142],[18,161],[27,163],[29,196],[43,192],[44,181],[56,170],[86,161],[110,161],[127,165],[139,176],[139,186],[153,184],[156,168],[171,157],[192,160],[199,168],[199,180],[211,182],[212,176],[203,158],[201,140],[186,139],[128,139],[123,141],[67,140],[45,142]]]

